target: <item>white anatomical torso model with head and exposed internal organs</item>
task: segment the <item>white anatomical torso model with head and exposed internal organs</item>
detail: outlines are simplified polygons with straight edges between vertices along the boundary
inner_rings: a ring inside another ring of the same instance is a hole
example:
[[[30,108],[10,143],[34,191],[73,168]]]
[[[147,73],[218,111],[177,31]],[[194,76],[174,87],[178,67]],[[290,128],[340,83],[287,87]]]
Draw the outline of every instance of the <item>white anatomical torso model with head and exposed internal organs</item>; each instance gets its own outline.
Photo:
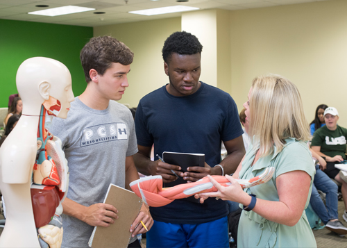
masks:
[[[45,119],[47,112],[67,117],[74,101],[71,75],[59,61],[35,57],[20,65],[16,81],[23,110],[0,148],[0,188],[6,204],[0,247],[60,247],[67,163],[60,140],[45,129]]]

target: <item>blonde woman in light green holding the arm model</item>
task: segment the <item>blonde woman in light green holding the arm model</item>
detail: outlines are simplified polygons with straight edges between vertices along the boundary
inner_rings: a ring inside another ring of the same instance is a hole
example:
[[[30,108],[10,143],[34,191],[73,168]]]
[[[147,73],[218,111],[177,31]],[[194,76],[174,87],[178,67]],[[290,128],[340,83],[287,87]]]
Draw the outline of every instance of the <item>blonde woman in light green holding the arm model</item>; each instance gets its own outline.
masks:
[[[208,197],[237,201],[244,208],[239,220],[237,247],[316,247],[305,215],[310,201],[314,165],[307,147],[310,131],[296,86],[278,75],[253,80],[244,104],[253,140],[233,176],[232,185]],[[242,190],[235,179],[250,179],[275,167],[272,180]]]

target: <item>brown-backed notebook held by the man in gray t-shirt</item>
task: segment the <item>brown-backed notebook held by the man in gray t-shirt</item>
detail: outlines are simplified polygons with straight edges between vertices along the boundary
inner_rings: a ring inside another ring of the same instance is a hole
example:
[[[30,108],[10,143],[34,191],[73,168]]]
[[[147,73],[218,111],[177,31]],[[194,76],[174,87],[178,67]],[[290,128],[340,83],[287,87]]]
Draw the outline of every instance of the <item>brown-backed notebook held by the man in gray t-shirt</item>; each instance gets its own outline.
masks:
[[[88,245],[92,248],[128,247],[131,238],[130,226],[139,214],[142,199],[134,192],[111,183],[103,202],[117,208],[118,219],[108,227],[95,226]]]

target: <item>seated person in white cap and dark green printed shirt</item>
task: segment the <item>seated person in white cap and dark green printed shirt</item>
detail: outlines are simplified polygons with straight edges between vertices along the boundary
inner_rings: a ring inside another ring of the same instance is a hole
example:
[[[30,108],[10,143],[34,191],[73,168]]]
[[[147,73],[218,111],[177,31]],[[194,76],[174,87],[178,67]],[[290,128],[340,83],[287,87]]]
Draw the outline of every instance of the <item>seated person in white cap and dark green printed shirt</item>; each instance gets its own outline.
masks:
[[[335,179],[342,183],[341,193],[346,208],[347,180],[340,170],[335,168],[335,164],[346,159],[347,129],[337,125],[339,113],[336,108],[326,108],[324,111],[324,120],[326,125],[314,132],[311,148],[327,162],[324,172],[331,179]],[[347,222],[346,210],[342,217],[344,217],[344,220]]]

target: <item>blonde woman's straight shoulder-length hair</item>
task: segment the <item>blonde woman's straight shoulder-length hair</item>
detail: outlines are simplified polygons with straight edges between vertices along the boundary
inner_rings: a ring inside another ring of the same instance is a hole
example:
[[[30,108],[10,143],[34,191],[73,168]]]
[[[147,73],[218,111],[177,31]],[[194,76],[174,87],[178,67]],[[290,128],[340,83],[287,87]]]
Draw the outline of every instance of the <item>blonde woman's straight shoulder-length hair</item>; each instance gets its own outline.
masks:
[[[279,75],[253,79],[250,101],[250,133],[260,142],[261,156],[282,151],[286,138],[310,139],[300,93],[294,83]]]

